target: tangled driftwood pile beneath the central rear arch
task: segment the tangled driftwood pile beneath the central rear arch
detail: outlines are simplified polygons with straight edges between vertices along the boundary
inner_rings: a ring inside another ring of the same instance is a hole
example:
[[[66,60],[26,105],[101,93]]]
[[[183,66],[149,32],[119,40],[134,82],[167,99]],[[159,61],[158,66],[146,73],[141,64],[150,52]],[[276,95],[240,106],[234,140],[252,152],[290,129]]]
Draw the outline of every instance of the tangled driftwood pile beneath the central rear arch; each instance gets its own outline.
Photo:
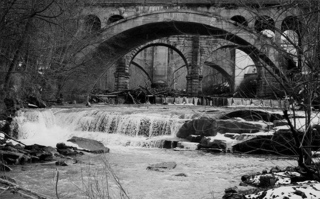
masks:
[[[174,90],[171,88],[155,89],[139,86],[135,89],[127,89],[123,91],[102,91],[95,90],[91,92],[92,101],[107,103],[104,98],[125,98],[126,102],[133,104],[146,103],[153,101],[156,97],[184,97],[188,96],[186,91]]]

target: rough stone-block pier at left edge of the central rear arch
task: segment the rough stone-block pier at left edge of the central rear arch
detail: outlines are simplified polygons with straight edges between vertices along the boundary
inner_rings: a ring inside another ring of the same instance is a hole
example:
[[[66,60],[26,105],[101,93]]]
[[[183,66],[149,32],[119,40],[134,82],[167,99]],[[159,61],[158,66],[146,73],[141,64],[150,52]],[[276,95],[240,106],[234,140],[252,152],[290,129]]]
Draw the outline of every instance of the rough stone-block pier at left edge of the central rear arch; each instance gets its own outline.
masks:
[[[129,61],[126,59],[126,56],[121,57],[115,65],[115,90],[122,91],[129,89]]]

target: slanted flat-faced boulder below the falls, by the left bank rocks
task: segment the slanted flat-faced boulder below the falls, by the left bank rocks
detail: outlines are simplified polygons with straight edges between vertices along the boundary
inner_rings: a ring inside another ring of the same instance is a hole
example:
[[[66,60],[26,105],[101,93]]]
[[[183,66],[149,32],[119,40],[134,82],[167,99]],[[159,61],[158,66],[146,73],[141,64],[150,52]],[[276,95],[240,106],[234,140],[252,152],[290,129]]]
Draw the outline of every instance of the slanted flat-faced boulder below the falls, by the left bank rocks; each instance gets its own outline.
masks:
[[[77,144],[80,148],[87,149],[92,153],[109,153],[109,148],[105,147],[101,142],[94,139],[86,139],[73,136],[67,141]]]

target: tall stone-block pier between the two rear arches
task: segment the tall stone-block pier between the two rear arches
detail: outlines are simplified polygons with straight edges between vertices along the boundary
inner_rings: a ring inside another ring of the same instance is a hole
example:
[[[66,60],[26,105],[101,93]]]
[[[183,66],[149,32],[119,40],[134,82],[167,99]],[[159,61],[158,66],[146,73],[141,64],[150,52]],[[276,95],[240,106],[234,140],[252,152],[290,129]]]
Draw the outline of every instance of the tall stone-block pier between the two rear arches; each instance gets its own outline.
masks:
[[[186,76],[187,78],[187,92],[189,95],[199,95],[202,92],[202,78],[200,76],[200,37],[194,36],[192,42],[192,65],[191,65],[191,74]]]

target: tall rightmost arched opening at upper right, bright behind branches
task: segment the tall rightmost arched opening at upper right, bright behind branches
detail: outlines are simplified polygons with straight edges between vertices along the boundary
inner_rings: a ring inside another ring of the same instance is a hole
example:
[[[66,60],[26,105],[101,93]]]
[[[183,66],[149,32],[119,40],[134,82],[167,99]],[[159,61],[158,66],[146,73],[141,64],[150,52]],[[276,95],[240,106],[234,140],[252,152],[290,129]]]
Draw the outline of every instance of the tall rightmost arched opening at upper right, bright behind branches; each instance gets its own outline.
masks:
[[[297,17],[286,17],[281,24],[281,47],[287,52],[287,69],[295,70],[301,67],[301,56],[297,48],[301,45],[300,23]]]

